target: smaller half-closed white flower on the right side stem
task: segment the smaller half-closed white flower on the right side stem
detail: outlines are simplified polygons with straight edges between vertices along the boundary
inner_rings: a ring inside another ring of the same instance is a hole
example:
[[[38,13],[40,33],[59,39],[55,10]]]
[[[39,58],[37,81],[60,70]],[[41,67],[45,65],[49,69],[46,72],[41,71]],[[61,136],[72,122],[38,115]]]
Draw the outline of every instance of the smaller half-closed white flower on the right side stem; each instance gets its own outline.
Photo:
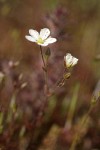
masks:
[[[64,61],[66,67],[70,68],[77,64],[78,59],[73,57],[70,53],[67,53],[66,56],[64,56]]]

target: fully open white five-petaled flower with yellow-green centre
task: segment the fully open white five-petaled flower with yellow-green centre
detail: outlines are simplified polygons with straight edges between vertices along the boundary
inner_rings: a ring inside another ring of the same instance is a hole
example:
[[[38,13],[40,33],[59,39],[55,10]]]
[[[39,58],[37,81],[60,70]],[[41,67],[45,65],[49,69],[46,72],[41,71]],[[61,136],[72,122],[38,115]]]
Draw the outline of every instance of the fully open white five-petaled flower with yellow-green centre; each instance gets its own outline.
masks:
[[[41,46],[47,46],[57,41],[56,38],[50,36],[50,30],[48,28],[41,29],[40,33],[36,30],[30,29],[29,34],[30,35],[26,35],[25,38],[31,42],[36,42]]]

